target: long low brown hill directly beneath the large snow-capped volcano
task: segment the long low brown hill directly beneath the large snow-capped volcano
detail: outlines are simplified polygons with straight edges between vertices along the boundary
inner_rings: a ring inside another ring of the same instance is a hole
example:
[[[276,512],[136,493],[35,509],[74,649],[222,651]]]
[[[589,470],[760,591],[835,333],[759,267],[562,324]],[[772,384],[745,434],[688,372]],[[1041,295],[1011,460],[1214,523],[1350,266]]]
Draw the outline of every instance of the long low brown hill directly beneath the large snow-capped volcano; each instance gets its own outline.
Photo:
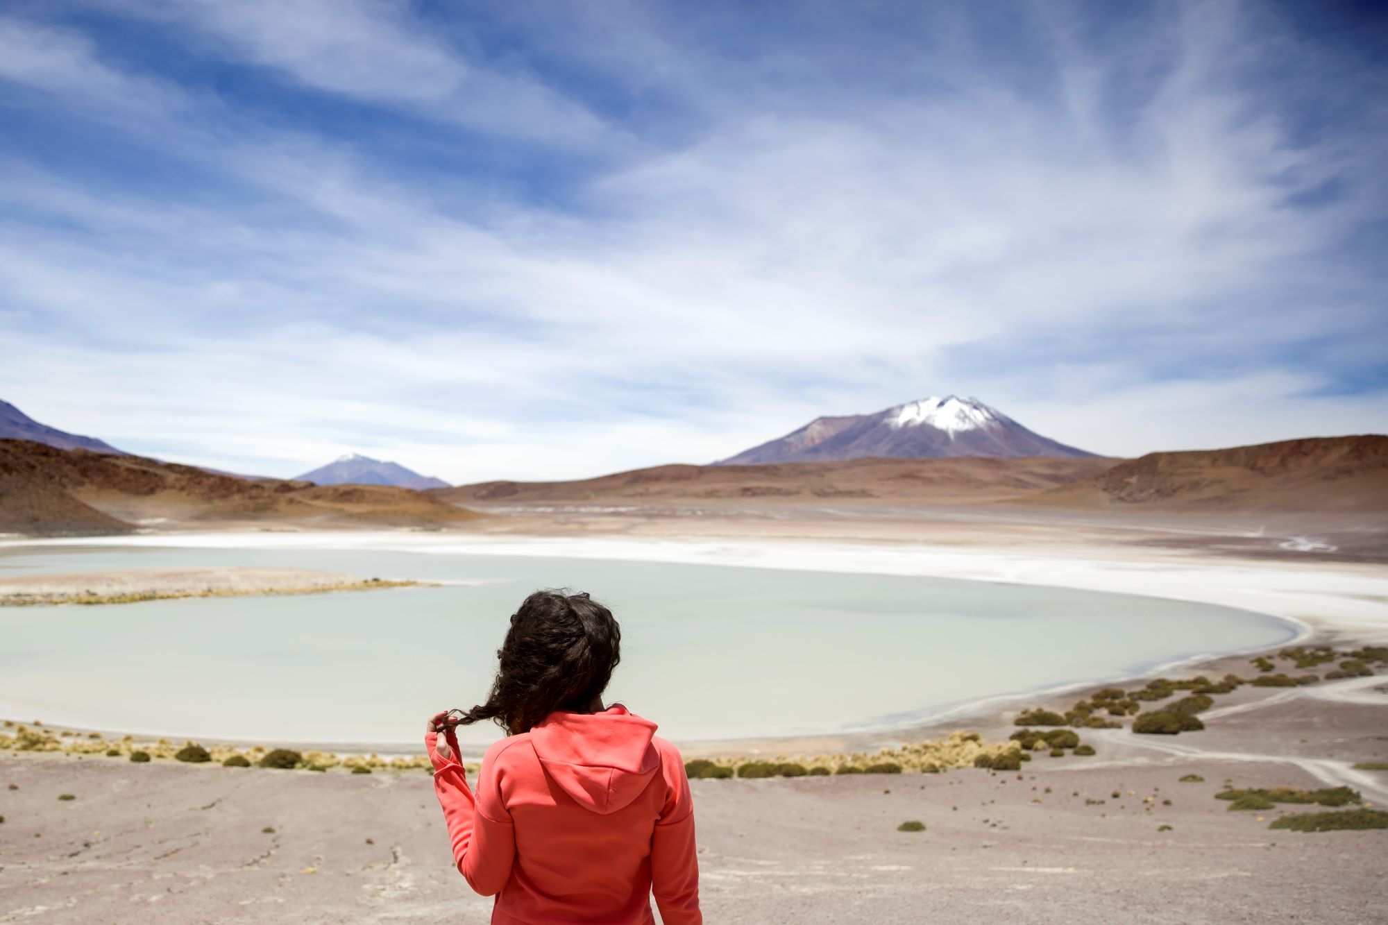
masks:
[[[575,482],[479,482],[429,492],[458,504],[777,499],[979,503],[1041,492],[1112,467],[1103,458],[940,458],[657,465]]]

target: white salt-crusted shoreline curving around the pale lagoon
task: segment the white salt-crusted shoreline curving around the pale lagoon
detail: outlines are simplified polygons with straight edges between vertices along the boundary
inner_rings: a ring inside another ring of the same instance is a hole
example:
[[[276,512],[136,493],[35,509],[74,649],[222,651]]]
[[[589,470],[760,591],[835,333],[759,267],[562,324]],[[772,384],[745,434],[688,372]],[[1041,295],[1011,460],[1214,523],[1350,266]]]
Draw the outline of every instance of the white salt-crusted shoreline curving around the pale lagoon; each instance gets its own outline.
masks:
[[[654,518],[658,538],[627,536],[618,526],[632,525],[630,515],[609,518],[605,531],[589,528],[586,535],[572,529],[502,533],[477,531],[416,533],[403,531],[332,531],[332,532],[160,532],[135,538],[69,538],[60,540],[7,540],[0,543],[0,562],[6,553],[25,549],[54,547],[182,547],[182,549],[365,549],[403,550],[422,554],[564,556],[575,558],[620,558],[629,561],[738,564],[748,568],[824,569],[852,574],[919,575],[977,582],[1004,582],[1066,588],[1074,590],[1117,592],[1151,597],[1209,603],[1235,607],[1278,619],[1294,631],[1294,638],[1270,646],[1258,646],[1224,654],[1196,654],[1177,662],[1153,665],[1140,672],[1115,674],[1034,690],[1004,692],[931,710],[917,719],[874,724],[824,733],[790,733],[733,739],[676,739],[693,756],[793,754],[815,751],[862,751],[892,743],[940,738],[959,728],[990,724],[1009,710],[1033,701],[1058,697],[1083,697],[1113,683],[1131,683],[1163,672],[1198,674],[1220,669],[1231,660],[1246,660],[1266,650],[1292,644],[1373,644],[1388,639],[1388,569],[1376,564],[1326,561],[1306,553],[1296,565],[1263,557],[1244,558],[1208,554],[1199,550],[1152,547],[1144,533],[1124,528],[1124,542],[1113,535],[1095,536],[1065,524],[1059,531],[1016,529],[1002,522],[983,529],[967,525],[959,533],[936,531],[930,544],[888,540],[874,533],[879,524],[834,522],[834,539],[788,542],[763,535],[765,524],[756,519],[720,521],[718,536],[687,528],[690,521],[670,524]],[[638,518],[648,526],[651,518]],[[779,525],[773,525],[779,526]],[[701,524],[706,529],[708,524]],[[981,531],[981,532],[980,532]],[[849,539],[856,536],[856,539]],[[264,571],[264,569],[262,569]],[[290,572],[294,569],[286,569]],[[301,569],[300,569],[301,571]],[[343,579],[347,576],[337,576]],[[1246,662],[1245,662],[1246,664]],[[630,704],[640,712],[638,704]],[[14,710],[0,712],[8,714]],[[21,719],[22,717],[14,717]],[[42,718],[42,717],[40,717]],[[121,729],[87,729],[60,724],[82,732],[96,731],[125,735]],[[187,738],[185,731],[179,738]],[[158,738],[154,731],[136,731],[137,738]],[[168,733],[164,733],[168,735]],[[172,738],[172,736],[169,736]],[[193,736],[196,738],[196,736]],[[247,746],[286,746],[341,753],[411,754],[403,742],[307,742],[294,739],[211,738],[212,742]],[[469,746],[469,757],[480,757],[484,744]]]

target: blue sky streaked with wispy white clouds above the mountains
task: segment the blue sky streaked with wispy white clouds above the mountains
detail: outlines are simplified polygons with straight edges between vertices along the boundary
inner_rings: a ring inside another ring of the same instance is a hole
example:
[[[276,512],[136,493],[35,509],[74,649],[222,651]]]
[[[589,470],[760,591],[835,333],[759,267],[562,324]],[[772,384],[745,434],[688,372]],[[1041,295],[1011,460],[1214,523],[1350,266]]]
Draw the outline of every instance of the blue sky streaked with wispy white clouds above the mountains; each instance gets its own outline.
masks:
[[[966,8],[967,7],[967,8]],[[0,397],[265,475],[1388,422],[1371,4],[11,0]]]

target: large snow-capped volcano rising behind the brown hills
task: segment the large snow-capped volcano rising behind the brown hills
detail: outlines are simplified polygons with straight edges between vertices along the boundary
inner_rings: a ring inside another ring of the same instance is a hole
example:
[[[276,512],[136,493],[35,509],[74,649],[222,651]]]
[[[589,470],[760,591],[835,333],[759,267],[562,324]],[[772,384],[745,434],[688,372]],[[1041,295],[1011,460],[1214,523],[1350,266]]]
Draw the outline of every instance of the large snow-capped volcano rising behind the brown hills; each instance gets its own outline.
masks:
[[[1094,456],[1033,433],[977,399],[931,396],[876,414],[816,418],[798,431],[715,465],[856,460],[867,456],[930,458],[987,456]]]

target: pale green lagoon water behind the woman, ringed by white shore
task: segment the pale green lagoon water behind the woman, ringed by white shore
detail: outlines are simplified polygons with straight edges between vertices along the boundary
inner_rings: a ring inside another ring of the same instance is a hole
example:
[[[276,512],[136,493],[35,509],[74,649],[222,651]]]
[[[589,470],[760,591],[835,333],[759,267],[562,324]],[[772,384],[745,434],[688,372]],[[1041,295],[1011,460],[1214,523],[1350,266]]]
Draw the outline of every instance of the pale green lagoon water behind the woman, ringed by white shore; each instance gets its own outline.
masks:
[[[486,696],[509,614],[555,586],[613,610],[623,660],[608,700],[676,740],[904,725],[1296,633],[1210,604],[831,571],[303,546],[28,546],[0,557],[11,575],[223,565],[458,583],[0,608],[0,715],[207,739],[414,743],[429,714]]]

